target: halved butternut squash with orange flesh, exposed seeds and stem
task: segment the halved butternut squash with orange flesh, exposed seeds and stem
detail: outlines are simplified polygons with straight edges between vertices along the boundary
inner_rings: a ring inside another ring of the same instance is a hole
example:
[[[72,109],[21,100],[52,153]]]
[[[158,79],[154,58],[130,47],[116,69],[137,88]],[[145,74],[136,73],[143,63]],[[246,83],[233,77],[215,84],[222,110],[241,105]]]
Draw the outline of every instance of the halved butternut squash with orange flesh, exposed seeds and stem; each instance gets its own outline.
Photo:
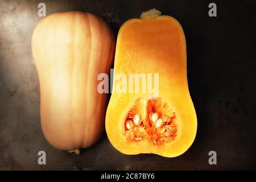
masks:
[[[135,84],[134,79],[128,93],[120,92],[117,75],[130,79],[131,73],[137,73],[140,81]],[[146,90],[143,74],[151,73],[159,78],[154,84],[159,84],[156,96],[142,92]],[[136,85],[140,92],[135,91]],[[171,16],[160,16],[155,9],[142,13],[141,19],[128,20],[118,32],[115,50],[113,93],[106,113],[110,142],[123,154],[175,157],[188,150],[196,130],[185,36],[179,22]]]

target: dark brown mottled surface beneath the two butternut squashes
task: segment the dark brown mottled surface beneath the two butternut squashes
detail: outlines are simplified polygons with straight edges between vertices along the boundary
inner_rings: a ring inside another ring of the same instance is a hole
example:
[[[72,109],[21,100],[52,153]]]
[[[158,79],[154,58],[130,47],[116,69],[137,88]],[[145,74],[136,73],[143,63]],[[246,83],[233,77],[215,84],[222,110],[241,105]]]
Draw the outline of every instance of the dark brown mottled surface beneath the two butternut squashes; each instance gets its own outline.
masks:
[[[188,81],[195,104],[195,142],[177,158],[123,155],[106,134],[79,156],[53,148],[40,127],[39,81],[31,55],[31,35],[42,1],[0,2],[0,169],[96,170],[256,169],[255,1],[48,1],[47,15],[89,11],[106,19],[115,35],[122,23],[153,7],[174,16],[187,39]],[[164,65],[163,65],[164,66]],[[38,151],[47,154],[39,166]],[[217,165],[208,152],[217,152]]]

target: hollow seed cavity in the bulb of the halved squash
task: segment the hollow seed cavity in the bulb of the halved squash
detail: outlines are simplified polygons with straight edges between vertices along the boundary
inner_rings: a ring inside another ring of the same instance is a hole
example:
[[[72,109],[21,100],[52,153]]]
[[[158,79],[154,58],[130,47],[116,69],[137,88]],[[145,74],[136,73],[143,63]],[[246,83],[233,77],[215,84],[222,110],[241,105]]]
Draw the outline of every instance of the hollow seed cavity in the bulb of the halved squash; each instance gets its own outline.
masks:
[[[146,102],[138,98],[127,113],[125,134],[133,141],[146,139],[158,145],[171,142],[177,136],[176,114],[160,97]]]

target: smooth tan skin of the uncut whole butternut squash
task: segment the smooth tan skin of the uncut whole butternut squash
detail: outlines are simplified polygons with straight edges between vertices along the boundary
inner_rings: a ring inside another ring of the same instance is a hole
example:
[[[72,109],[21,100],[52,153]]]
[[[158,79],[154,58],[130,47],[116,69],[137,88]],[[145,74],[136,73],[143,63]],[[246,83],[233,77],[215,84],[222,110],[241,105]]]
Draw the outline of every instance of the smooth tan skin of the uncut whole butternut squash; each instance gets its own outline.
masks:
[[[106,94],[97,76],[109,73],[114,36],[105,20],[90,13],[56,13],[42,19],[32,36],[40,81],[44,136],[60,150],[91,146],[104,128]]]

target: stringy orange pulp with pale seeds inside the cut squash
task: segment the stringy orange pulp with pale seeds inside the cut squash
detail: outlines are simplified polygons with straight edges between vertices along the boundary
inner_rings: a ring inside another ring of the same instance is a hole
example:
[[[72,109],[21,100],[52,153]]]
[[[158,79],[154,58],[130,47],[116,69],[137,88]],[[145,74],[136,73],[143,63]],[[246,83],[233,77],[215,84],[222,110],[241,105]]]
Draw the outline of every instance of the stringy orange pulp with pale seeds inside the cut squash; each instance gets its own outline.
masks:
[[[164,103],[163,107],[167,107],[167,104]],[[155,110],[159,110],[159,108],[155,109],[154,106],[147,108],[146,119],[142,119],[141,115],[135,113],[134,108],[129,111],[125,121],[128,139],[135,141],[147,139],[154,144],[163,144],[175,139],[177,135],[176,114],[172,112],[167,115]]]

